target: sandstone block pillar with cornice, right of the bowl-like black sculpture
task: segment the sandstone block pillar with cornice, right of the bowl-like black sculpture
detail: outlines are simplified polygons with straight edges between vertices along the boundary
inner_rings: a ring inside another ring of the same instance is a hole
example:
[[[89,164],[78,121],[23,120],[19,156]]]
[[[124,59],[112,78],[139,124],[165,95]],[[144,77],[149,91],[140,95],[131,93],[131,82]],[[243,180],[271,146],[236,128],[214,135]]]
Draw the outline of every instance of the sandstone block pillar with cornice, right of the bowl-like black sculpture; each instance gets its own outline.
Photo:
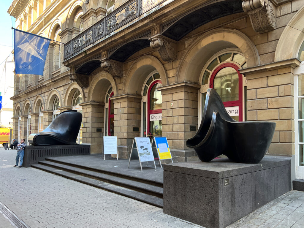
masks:
[[[285,60],[240,70],[247,80],[247,120],[276,123],[269,154],[295,154],[294,68]]]

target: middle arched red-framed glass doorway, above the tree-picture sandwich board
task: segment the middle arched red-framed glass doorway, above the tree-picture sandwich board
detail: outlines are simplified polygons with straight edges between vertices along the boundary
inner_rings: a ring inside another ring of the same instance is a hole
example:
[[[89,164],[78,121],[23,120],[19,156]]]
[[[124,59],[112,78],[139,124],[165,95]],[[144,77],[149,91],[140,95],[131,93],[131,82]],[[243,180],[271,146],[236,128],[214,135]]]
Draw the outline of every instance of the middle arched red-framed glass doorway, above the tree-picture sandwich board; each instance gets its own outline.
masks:
[[[143,131],[142,136],[162,135],[161,92],[157,90],[161,86],[159,73],[148,76],[143,86]],[[147,101],[147,102],[145,102]]]

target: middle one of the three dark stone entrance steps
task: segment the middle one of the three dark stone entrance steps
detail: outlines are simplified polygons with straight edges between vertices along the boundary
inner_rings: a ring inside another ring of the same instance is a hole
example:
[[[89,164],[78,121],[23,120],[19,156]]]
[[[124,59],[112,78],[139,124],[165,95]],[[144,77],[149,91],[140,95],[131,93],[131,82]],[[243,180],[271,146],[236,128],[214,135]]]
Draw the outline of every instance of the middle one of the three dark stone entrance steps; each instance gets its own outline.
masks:
[[[53,161],[39,161],[39,164],[47,165],[64,171],[72,172],[77,175],[89,177],[92,179],[97,179],[103,182],[108,182],[110,184],[118,185],[125,188],[130,188],[138,192],[147,193],[160,198],[163,198],[163,188],[155,186],[154,182],[143,183],[141,179],[134,178],[132,180],[122,177],[117,177],[112,174],[101,173],[99,170],[87,170],[84,168],[73,167],[70,165],[59,164]]]

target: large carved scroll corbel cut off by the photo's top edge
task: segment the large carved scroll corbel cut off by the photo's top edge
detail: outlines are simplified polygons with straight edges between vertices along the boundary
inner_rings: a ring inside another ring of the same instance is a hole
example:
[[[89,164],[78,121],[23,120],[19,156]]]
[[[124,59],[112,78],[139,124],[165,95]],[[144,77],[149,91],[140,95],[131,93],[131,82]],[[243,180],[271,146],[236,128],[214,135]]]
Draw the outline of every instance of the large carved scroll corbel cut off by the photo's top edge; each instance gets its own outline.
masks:
[[[276,8],[270,0],[245,0],[242,7],[249,15],[254,31],[266,33],[276,29]]]

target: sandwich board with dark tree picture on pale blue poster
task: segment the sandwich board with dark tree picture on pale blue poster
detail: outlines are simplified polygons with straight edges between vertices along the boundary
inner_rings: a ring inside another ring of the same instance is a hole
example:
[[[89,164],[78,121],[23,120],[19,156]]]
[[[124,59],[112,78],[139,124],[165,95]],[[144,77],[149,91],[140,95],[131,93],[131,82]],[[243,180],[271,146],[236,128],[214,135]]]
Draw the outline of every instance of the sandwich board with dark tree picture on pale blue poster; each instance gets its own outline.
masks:
[[[139,160],[140,169],[143,171],[142,163],[147,161],[153,161],[154,162],[154,168],[156,169],[154,156],[153,156],[153,150],[150,143],[149,137],[134,137],[133,144],[132,144],[132,150],[129,158],[129,164],[128,168],[130,166],[131,160]]]

